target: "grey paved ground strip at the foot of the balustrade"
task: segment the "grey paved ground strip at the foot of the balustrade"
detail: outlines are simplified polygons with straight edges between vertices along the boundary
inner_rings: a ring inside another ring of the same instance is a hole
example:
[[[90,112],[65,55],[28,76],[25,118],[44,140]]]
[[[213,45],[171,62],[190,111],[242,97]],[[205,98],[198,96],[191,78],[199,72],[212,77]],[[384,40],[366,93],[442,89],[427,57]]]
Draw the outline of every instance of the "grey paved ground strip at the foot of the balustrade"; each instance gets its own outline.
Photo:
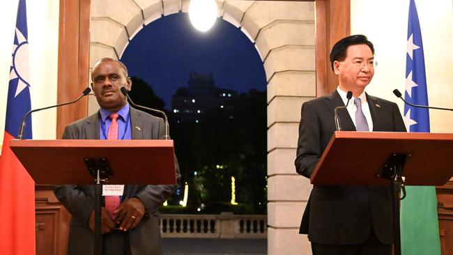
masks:
[[[164,255],[266,255],[267,239],[162,238]]]

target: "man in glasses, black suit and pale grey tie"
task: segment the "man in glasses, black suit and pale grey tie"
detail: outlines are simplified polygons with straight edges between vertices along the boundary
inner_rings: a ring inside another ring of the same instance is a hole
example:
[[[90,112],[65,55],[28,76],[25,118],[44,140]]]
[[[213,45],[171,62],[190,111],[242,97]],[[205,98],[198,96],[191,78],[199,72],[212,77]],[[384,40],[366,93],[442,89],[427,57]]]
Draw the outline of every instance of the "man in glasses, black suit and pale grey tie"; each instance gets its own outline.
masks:
[[[295,168],[307,178],[335,132],[334,109],[346,105],[347,91],[353,98],[341,116],[344,130],[406,132],[394,102],[364,92],[376,66],[367,37],[339,40],[330,63],[338,77],[337,89],[302,105]],[[360,157],[360,148],[348,153]],[[308,234],[313,254],[392,254],[390,187],[314,185],[300,233]]]

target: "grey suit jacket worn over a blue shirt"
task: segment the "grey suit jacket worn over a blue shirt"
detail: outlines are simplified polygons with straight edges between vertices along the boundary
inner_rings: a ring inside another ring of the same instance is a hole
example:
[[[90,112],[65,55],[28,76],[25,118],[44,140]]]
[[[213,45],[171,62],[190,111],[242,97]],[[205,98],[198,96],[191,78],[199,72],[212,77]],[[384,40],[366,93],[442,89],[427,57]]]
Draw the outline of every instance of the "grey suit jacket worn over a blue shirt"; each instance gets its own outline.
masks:
[[[164,139],[165,129],[162,118],[146,114],[130,107],[132,139]],[[63,139],[99,139],[99,111],[68,125]],[[181,173],[176,163],[176,178]],[[146,208],[144,216],[135,229],[128,231],[132,254],[161,254],[158,207],[174,191],[173,185],[125,185],[123,200],[138,197]],[[56,186],[54,193],[72,215],[68,240],[68,254],[93,254],[93,233],[88,221],[95,208],[94,185]],[[104,241],[110,234],[104,235]],[[109,251],[112,254],[115,251]],[[105,251],[104,251],[105,253]]]

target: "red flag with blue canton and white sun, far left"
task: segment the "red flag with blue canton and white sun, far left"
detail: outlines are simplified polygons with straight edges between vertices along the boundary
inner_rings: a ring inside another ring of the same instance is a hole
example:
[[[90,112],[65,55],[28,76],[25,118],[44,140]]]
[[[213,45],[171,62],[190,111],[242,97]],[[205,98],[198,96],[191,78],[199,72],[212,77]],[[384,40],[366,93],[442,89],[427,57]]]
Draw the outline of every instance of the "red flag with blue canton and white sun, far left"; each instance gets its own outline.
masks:
[[[35,254],[35,184],[10,150],[20,123],[31,109],[29,42],[25,0],[19,1],[6,106],[5,134],[0,157],[0,254]],[[24,139],[31,139],[31,118]]]

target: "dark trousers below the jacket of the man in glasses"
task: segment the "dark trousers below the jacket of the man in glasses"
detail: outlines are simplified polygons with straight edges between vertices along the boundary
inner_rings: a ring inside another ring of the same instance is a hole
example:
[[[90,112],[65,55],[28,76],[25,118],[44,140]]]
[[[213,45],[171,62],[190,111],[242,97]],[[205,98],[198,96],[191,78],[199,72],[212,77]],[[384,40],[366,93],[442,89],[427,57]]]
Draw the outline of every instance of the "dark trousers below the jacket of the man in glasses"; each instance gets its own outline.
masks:
[[[392,245],[378,240],[371,229],[368,239],[360,245],[322,245],[312,242],[313,255],[391,255]]]

